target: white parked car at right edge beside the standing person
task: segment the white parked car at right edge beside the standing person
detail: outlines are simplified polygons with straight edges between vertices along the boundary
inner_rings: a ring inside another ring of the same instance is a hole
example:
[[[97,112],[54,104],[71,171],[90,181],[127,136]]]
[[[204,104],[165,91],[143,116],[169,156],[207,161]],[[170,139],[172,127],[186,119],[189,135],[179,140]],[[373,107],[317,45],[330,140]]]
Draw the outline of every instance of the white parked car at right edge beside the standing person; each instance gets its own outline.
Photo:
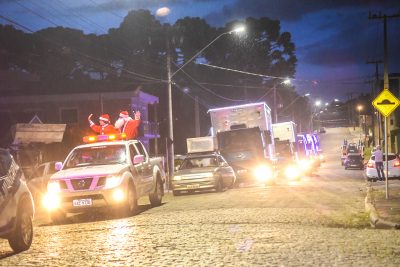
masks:
[[[386,155],[383,155],[383,167],[386,170]],[[400,179],[400,159],[396,154],[389,153],[388,155],[388,170],[389,179]],[[378,180],[378,173],[375,168],[375,157],[371,156],[368,160],[365,170],[368,181],[376,182]]]

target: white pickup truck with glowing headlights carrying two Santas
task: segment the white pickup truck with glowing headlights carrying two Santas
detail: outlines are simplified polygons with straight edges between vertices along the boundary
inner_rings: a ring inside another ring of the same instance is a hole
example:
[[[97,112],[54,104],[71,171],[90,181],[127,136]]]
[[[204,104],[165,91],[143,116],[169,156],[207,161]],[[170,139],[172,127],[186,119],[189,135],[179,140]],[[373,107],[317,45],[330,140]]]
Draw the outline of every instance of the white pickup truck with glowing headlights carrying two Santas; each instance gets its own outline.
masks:
[[[77,146],[64,163],[55,164],[58,172],[51,176],[42,200],[53,222],[63,222],[67,213],[97,208],[132,215],[143,196],[149,196],[152,206],[161,204],[165,183],[162,158],[150,158],[138,140],[98,137],[106,141]]]

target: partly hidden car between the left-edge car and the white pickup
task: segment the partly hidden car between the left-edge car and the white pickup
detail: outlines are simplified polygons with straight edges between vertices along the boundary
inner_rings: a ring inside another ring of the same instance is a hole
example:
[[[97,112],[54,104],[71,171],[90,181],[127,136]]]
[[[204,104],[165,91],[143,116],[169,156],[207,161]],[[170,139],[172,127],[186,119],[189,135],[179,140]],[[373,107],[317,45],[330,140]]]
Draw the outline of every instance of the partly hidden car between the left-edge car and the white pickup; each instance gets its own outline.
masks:
[[[32,194],[35,206],[38,207],[47,191],[47,182],[51,175],[56,172],[55,161],[42,163],[35,167],[27,179],[29,191]]]

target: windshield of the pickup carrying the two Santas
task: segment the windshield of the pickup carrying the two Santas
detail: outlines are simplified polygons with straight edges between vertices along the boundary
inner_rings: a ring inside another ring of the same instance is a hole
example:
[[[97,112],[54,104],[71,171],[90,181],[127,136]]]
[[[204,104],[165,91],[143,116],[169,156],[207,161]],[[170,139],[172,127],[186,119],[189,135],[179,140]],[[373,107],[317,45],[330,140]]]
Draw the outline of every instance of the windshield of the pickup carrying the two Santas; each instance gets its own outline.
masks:
[[[124,145],[77,148],[68,157],[64,169],[125,163],[126,158],[126,148]]]

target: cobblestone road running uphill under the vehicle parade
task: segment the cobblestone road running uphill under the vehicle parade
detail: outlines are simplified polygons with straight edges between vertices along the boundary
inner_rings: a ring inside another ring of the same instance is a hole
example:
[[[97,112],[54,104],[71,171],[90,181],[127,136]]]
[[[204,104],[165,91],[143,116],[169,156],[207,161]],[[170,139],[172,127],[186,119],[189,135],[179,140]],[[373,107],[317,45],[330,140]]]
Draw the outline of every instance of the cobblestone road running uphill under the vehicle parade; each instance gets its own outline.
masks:
[[[362,172],[332,154],[300,182],[167,194],[129,218],[51,225],[39,213],[31,249],[13,255],[0,241],[0,265],[399,266],[400,231],[370,229],[365,195]]]

